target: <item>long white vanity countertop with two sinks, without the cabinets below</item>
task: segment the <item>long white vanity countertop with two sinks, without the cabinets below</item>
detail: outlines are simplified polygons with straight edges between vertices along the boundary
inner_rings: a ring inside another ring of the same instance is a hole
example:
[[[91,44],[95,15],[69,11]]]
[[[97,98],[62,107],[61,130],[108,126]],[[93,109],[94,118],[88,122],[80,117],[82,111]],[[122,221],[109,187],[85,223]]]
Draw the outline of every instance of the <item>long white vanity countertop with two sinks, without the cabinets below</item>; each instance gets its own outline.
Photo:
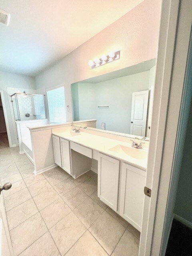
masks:
[[[52,134],[99,151],[108,156],[118,158],[142,170],[146,170],[147,168],[147,148],[133,148],[130,143],[88,134],[86,132],[75,133],[73,131],[66,131],[53,132]]]

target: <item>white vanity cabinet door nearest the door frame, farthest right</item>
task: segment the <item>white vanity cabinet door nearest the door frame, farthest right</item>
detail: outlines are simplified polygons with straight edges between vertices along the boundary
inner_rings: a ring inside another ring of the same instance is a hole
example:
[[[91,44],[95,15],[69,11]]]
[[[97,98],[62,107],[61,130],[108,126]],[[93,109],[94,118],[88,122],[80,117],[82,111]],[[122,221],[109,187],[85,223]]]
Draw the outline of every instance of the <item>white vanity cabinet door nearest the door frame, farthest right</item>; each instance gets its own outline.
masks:
[[[146,172],[126,163],[121,171],[120,215],[141,231]]]

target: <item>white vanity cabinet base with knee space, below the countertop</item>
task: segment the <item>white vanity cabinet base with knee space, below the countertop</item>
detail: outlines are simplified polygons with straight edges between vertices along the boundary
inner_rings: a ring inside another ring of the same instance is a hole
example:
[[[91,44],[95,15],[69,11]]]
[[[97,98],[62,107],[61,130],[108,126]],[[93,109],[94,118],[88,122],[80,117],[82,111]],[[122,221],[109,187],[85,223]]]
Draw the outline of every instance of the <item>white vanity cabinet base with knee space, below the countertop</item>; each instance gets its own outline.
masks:
[[[146,171],[114,156],[52,135],[55,163],[77,178],[98,160],[98,197],[141,231]]]

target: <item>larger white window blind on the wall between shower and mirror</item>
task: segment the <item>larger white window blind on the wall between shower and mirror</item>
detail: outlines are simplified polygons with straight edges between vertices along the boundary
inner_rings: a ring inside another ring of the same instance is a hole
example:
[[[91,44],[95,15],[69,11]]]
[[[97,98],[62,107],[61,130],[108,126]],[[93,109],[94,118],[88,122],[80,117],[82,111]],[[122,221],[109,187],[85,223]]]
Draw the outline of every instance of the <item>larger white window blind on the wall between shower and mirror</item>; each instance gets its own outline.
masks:
[[[64,87],[47,91],[50,123],[65,123],[65,92]]]

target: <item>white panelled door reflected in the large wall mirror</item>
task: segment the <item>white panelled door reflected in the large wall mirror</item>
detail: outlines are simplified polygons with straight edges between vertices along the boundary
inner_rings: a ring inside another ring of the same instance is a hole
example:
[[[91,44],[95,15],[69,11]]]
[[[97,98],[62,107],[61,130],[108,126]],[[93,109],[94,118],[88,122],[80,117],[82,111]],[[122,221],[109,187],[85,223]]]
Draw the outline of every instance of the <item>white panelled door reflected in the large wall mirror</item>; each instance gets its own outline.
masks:
[[[146,136],[149,90],[132,93],[130,134]]]

